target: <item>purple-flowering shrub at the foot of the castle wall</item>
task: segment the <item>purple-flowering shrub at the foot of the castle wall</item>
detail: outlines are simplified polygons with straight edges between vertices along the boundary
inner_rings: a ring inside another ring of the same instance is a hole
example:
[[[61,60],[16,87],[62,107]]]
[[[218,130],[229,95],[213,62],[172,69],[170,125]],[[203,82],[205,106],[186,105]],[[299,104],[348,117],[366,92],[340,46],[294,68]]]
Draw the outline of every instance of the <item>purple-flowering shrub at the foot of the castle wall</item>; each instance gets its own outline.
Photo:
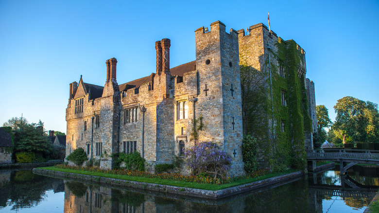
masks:
[[[232,161],[232,158],[213,142],[195,142],[193,147],[186,150],[185,156],[193,175],[208,174],[213,179],[223,179]]]

